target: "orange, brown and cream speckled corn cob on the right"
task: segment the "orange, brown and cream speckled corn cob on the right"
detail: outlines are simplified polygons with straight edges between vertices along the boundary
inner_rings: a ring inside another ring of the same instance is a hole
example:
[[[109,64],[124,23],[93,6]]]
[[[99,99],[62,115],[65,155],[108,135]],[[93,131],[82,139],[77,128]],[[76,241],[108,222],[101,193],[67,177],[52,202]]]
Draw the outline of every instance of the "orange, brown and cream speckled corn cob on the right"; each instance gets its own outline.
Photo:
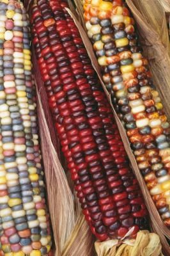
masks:
[[[85,0],[84,19],[139,170],[170,227],[169,124],[148,61],[141,54],[134,20],[121,0]]]

